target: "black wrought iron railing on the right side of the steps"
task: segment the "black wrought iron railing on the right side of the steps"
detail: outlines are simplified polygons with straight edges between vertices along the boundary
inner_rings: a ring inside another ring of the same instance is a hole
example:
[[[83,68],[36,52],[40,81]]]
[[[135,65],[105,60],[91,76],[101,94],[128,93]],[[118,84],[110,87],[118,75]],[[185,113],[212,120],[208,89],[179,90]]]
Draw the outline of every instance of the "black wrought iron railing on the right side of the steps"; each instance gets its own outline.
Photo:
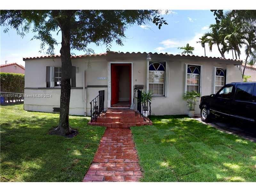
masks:
[[[140,112],[140,116],[143,116],[144,120],[148,119],[151,122],[151,102],[149,100],[142,102],[141,91],[137,91],[137,111]]]

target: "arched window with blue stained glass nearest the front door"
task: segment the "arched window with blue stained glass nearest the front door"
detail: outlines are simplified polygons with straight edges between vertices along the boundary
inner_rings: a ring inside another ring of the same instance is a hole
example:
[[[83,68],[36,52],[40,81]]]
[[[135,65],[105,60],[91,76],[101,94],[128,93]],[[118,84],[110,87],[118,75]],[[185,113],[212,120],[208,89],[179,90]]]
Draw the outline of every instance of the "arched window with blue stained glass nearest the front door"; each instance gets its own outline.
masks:
[[[155,96],[164,96],[165,62],[149,62],[148,90]]]

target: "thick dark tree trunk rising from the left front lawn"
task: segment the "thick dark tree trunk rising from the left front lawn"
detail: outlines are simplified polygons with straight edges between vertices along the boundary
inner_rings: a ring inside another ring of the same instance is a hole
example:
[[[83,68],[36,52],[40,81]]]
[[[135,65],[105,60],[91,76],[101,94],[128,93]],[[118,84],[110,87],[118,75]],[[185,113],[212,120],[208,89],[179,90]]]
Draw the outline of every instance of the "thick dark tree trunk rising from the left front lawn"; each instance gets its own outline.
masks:
[[[70,101],[70,78],[71,78],[71,54],[70,54],[70,28],[68,22],[61,26],[61,88],[60,88],[60,121],[59,126],[52,130],[51,134],[67,136],[72,132],[69,127],[69,101]]]

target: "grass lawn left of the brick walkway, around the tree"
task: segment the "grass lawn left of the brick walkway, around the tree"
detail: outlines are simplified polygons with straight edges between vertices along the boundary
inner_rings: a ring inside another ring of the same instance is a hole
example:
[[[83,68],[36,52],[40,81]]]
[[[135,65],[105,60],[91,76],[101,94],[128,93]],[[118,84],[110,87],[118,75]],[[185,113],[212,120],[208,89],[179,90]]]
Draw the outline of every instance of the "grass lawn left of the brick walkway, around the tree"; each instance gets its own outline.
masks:
[[[89,117],[69,116],[72,139],[48,135],[59,114],[28,112],[23,105],[1,112],[1,181],[82,181],[104,133]]]

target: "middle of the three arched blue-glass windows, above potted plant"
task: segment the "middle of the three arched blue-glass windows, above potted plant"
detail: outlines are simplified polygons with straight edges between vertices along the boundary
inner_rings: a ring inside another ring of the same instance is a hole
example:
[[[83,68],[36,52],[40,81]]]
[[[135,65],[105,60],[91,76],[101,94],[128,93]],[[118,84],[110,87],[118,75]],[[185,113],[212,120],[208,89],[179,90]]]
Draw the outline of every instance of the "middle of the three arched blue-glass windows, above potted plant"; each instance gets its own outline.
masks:
[[[201,66],[197,65],[187,65],[187,84],[186,91],[187,92],[200,92],[200,72]]]

